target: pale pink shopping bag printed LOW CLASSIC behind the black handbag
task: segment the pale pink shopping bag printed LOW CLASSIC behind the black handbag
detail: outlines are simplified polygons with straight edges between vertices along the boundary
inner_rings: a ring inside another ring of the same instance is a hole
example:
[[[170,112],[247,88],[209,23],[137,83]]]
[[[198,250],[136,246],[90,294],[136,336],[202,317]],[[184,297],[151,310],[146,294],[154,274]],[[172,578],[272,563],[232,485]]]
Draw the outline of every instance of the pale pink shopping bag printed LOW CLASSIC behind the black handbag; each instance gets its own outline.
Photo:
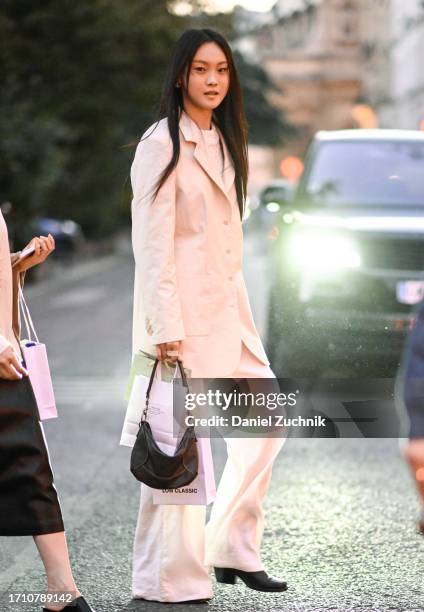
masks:
[[[168,454],[172,454],[175,450],[174,444],[164,442],[157,444]],[[213,502],[216,497],[216,486],[210,438],[197,438],[197,451],[199,453],[199,473],[193,482],[179,489],[152,489],[154,504],[207,506]]]

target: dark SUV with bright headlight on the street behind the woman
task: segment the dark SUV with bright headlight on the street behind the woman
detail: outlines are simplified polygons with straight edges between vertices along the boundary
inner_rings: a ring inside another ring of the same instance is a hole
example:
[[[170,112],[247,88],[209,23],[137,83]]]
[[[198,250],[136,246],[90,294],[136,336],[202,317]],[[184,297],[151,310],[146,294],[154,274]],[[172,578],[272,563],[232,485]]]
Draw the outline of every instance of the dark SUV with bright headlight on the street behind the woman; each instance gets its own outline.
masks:
[[[267,334],[276,373],[392,376],[424,297],[424,133],[318,133],[278,229]]]

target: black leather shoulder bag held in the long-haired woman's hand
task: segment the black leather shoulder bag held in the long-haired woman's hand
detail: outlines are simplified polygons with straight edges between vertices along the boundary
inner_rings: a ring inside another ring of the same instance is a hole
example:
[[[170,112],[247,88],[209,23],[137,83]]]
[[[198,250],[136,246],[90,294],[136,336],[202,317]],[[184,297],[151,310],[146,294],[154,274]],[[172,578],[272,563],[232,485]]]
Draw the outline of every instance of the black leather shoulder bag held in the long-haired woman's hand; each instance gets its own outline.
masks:
[[[145,407],[132,453],[130,469],[137,480],[153,489],[176,489],[190,484],[197,476],[199,459],[194,427],[187,427],[173,455],[162,451],[156,443],[147,421],[150,392],[155,380],[159,359],[156,359],[146,391]],[[184,387],[187,378],[180,360],[177,367]]]

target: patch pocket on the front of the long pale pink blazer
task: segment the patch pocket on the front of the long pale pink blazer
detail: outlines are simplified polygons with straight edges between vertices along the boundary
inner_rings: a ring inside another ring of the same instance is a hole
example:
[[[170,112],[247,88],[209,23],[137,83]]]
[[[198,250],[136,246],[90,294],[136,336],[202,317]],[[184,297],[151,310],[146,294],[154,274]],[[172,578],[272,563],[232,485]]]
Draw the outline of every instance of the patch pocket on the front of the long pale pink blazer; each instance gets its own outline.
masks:
[[[207,274],[178,277],[181,313],[186,336],[208,336],[211,331],[211,283]]]

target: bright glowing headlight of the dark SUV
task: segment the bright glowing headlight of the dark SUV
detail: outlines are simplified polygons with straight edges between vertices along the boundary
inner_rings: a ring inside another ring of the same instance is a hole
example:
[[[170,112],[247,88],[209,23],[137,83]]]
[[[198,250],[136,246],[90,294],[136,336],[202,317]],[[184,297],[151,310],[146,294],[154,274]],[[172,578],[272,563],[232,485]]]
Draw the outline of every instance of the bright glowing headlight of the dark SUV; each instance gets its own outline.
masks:
[[[302,268],[315,273],[358,268],[361,265],[361,257],[351,240],[316,232],[293,235],[290,255]]]

